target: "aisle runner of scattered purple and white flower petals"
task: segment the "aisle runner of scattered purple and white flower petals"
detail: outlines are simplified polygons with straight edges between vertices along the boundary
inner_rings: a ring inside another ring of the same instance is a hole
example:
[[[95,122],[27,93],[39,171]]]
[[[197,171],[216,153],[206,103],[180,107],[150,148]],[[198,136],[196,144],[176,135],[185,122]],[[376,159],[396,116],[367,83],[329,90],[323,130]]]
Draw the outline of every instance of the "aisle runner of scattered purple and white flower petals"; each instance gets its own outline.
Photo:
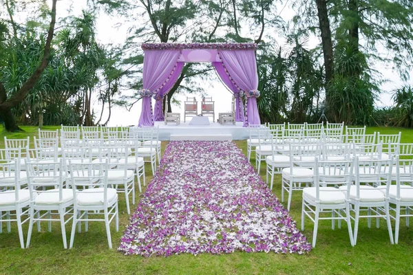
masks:
[[[169,142],[118,250],[302,254],[311,245],[233,142]]]

